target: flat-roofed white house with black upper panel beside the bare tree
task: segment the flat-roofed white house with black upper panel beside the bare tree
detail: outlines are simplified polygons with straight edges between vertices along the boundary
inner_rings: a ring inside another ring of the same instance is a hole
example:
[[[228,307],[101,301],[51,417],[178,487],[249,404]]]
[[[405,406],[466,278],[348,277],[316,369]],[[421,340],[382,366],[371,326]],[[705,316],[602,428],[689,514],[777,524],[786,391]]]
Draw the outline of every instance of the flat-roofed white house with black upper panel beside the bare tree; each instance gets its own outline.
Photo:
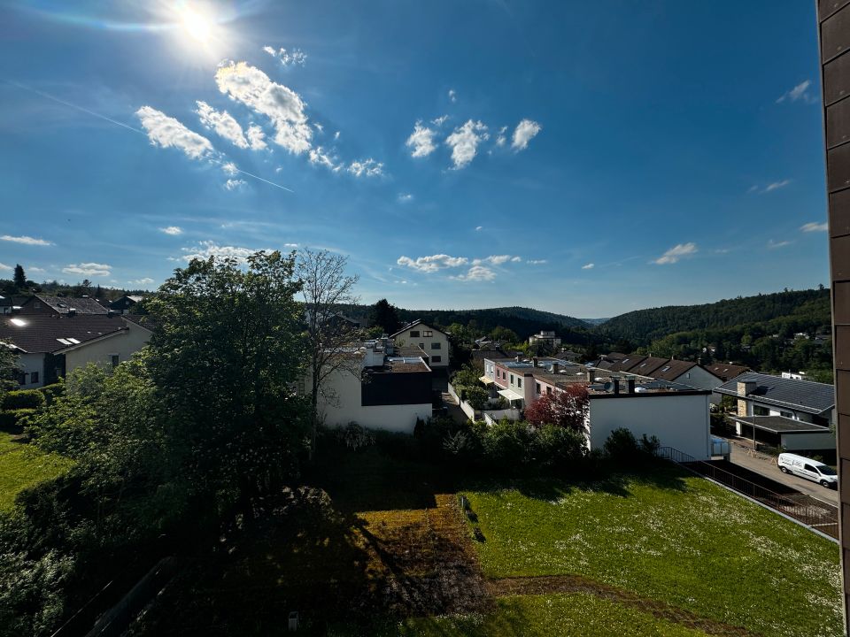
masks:
[[[419,350],[421,351],[421,350]],[[352,365],[328,375],[319,411],[327,426],[360,426],[413,434],[417,420],[433,413],[431,369],[421,356],[406,357],[389,339],[368,341]],[[309,387],[309,379],[300,392]]]

